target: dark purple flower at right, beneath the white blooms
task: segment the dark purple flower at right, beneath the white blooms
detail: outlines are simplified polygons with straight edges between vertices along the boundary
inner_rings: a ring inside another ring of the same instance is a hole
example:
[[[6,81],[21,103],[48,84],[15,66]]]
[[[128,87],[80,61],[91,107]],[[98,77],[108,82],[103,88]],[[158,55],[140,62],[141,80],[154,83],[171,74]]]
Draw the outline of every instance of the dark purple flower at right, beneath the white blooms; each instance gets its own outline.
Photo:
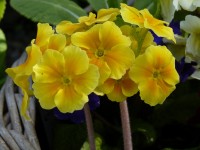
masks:
[[[180,76],[180,82],[185,82],[187,78],[194,73],[195,65],[197,65],[196,62],[186,63],[185,57],[183,57],[180,62],[176,61],[176,70]]]

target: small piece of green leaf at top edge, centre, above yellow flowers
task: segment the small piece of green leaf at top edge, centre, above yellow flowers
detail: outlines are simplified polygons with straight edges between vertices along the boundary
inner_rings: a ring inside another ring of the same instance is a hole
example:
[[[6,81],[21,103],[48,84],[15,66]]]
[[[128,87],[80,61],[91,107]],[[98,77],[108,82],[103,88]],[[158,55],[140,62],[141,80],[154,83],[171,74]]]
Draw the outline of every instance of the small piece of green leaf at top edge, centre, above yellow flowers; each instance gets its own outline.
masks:
[[[102,8],[108,8],[108,0],[87,0],[88,3],[94,8],[94,10],[98,11]]]

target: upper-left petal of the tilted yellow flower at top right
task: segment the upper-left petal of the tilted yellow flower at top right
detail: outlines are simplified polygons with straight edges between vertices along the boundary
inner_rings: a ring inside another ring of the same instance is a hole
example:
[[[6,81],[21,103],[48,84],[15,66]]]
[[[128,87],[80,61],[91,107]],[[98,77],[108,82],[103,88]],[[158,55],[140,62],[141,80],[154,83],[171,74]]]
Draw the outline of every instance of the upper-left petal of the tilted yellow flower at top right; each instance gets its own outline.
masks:
[[[144,27],[144,19],[136,8],[121,3],[120,12],[125,22]]]

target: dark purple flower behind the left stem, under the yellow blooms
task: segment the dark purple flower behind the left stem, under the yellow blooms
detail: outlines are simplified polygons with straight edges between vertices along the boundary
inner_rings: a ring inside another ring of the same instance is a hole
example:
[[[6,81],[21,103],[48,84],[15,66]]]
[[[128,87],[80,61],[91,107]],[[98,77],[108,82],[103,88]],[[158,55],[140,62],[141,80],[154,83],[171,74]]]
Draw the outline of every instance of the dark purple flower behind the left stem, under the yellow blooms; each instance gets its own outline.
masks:
[[[99,97],[96,94],[91,93],[89,95],[88,104],[91,111],[95,110],[97,107],[100,106]],[[83,109],[74,111],[73,113],[61,113],[57,108],[55,108],[54,115],[59,120],[68,120],[69,122],[72,123],[83,123],[85,121],[85,115]]]

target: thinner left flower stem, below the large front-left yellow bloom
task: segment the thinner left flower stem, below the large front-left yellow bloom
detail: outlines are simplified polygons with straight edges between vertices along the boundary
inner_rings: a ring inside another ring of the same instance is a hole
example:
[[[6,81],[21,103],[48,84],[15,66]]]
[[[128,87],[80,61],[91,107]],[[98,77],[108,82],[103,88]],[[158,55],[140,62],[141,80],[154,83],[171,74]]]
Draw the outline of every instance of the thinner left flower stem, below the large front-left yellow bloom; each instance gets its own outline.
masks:
[[[85,113],[85,120],[86,120],[86,125],[87,125],[87,133],[88,133],[90,150],[95,150],[96,146],[95,146],[94,128],[93,128],[92,117],[91,117],[88,103],[86,103],[84,106],[84,113]]]

